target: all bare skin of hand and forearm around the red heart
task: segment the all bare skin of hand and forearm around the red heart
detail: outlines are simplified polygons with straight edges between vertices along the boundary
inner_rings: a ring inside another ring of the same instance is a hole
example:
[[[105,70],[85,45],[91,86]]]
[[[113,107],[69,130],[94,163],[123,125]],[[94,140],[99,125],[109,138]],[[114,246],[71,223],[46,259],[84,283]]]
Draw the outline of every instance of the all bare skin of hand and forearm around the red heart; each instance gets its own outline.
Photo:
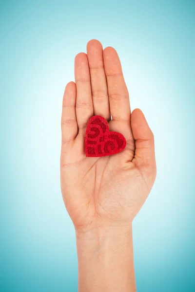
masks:
[[[101,115],[126,148],[91,158],[84,152],[88,120]],[[111,120],[112,116],[112,120]],[[75,82],[63,96],[61,191],[74,223],[79,292],[136,291],[132,221],[156,178],[154,135],[141,110],[131,113],[117,52],[98,40],[75,57]]]

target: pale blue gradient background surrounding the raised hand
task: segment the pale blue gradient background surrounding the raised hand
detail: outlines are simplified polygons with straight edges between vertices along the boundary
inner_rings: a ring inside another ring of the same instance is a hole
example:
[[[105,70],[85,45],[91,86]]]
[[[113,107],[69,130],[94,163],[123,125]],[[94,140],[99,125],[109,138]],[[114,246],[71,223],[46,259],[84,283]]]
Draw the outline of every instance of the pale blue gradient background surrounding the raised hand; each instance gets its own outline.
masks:
[[[195,291],[194,19],[190,0],[0,0],[0,291],[77,291],[60,115],[91,38],[117,49],[156,137],[156,183],[133,222],[137,291]]]

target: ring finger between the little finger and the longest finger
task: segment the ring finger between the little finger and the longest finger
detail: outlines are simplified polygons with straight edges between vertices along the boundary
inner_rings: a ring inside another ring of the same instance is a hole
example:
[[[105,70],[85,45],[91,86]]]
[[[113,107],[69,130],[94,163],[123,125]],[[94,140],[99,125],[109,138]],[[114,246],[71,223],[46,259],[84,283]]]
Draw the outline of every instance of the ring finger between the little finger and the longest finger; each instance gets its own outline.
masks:
[[[89,65],[85,53],[79,53],[75,57],[75,81],[77,85],[76,115],[78,131],[84,133],[87,122],[94,113]]]

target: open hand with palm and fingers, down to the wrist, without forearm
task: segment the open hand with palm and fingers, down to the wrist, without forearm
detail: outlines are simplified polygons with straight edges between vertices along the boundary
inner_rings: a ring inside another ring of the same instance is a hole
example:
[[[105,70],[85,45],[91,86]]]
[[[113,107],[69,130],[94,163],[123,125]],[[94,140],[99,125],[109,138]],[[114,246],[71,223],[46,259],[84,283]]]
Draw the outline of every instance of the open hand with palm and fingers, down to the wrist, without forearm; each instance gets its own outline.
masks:
[[[98,40],[75,57],[75,81],[66,85],[61,118],[61,191],[76,230],[130,226],[156,177],[154,135],[141,110],[131,113],[120,60]],[[88,120],[101,115],[124,135],[115,155],[85,157]],[[112,120],[111,120],[112,116]]]

